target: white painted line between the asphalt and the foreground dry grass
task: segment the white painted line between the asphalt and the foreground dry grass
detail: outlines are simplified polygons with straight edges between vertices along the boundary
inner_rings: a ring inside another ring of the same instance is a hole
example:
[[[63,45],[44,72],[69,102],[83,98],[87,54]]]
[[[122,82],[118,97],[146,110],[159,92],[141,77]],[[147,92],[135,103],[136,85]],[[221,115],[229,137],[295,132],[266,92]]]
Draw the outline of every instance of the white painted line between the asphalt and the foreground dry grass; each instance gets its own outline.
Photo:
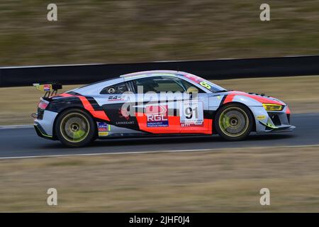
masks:
[[[319,147],[315,145],[286,145],[286,146],[269,146],[269,147],[247,147],[248,149],[273,149],[273,148],[310,148]],[[87,154],[72,154],[72,155],[34,155],[34,156],[17,156],[17,157],[0,157],[0,160],[12,160],[22,158],[38,158],[38,157],[77,157],[77,156],[97,156],[97,155],[136,155],[145,153],[183,153],[183,152],[208,152],[214,150],[243,150],[247,148],[207,148],[207,149],[194,149],[194,150],[153,150],[153,151],[130,151],[130,152],[116,152],[116,153],[87,153]]]

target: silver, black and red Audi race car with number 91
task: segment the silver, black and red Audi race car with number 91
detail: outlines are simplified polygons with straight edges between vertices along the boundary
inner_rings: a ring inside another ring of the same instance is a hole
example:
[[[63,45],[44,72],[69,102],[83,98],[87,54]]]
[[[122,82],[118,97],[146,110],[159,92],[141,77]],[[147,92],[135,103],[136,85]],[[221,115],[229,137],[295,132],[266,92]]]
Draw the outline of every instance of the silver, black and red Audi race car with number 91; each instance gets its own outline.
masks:
[[[60,84],[34,84],[40,99],[35,131],[40,137],[81,147],[99,138],[144,135],[212,135],[242,140],[250,132],[286,132],[284,102],[228,91],[194,74],[155,70],[124,74],[57,94]]]

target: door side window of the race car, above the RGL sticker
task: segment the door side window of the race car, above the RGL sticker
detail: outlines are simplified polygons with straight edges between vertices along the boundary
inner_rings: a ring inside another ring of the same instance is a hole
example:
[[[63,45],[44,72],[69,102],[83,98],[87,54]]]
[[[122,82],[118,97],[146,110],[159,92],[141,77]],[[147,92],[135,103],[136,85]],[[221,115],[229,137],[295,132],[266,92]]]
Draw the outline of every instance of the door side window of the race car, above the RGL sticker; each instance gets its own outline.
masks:
[[[143,93],[146,92],[185,92],[183,84],[178,79],[170,77],[148,77],[135,80],[135,91],[142,87]]]

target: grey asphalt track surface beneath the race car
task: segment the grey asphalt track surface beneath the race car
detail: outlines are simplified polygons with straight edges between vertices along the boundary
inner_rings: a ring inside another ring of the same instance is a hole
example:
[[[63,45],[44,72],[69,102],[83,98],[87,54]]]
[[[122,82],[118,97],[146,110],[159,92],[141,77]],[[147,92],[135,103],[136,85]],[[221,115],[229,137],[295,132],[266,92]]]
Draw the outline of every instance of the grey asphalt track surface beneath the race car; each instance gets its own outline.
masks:
[[[39,138],[33,128],[1,129],[0,159],[104,153],[140,153],[208,150],[220,148],[319,145],[319,114],[295,114],[289,133],[253,134],[243,141],[228,142],[214,136],[129,138],[96,140],[86,148],[65,148],[59,141]],[[319,148],[318,148],[319,149]]]

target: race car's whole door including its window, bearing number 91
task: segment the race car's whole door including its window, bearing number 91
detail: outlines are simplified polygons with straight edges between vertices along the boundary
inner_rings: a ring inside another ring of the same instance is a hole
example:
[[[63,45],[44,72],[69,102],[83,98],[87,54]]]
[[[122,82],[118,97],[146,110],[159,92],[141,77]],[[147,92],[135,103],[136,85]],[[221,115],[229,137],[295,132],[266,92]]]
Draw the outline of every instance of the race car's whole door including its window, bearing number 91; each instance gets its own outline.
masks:
[[[145,99],[143,94],[136,94],[138,111],[135,116],[140,130],[150,133],[211,133],[211,119],[204,118],[204,111],[209,107],[208,94],[187,93],[186,89],[194,84],[186,86],[185,83],[189,82],[181,80],[174,77],[135,80],[136,90],[143,86],[140,90],[154,97]]]

